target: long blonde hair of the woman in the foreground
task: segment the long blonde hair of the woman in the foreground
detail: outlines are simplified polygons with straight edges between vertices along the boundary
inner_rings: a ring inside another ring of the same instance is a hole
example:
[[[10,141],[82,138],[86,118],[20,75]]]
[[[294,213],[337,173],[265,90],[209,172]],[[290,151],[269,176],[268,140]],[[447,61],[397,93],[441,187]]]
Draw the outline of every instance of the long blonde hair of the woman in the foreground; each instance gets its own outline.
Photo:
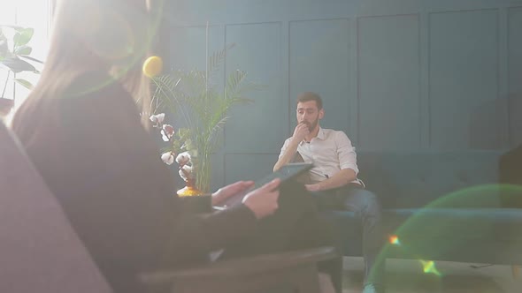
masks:
[[[136,101],[147,104],[149,82],[141,68],[159,23],[149,5],[147,0],[58,0],[40,80],[16,111],[13,126],[20,114],[56,110],[50,100],[62,97],[88,71],[111,73]]]

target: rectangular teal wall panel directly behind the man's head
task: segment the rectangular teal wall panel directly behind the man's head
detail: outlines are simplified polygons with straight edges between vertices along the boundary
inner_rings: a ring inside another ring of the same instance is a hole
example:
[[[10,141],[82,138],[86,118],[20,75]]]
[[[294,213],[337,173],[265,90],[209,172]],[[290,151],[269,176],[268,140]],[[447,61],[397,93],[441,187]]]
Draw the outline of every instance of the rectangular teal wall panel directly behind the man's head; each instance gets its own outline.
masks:
[[[356,120],[349,116],[354,96],[350,96],[348,19],[293,21],[289,30],[290,130],[296,126],[296,96],[311,91],[324,101],[321,124],[349,133],[350,121]]]

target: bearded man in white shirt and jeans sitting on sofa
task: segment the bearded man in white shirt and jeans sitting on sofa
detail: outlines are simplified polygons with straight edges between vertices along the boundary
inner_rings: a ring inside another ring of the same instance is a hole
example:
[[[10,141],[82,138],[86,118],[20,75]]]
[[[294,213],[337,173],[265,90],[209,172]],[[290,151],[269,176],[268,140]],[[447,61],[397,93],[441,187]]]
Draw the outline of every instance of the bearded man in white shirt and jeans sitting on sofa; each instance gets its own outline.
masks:
[[[384,291],[384,260],[378,259],[384,244],[380,230],[381,208],[377,197],[365,190],[357,178],[355,147],[343,131],[323,129],[325,116],[319,94],[297,96],[297,125],[294,134],[281,147],[274,171],[288,162],[311,162],[314,167],[305,187],[317,199],[319,207],[345,209],[360,217],[363,228],[365,289],[363,293]],[[296,159],[298,158],[298,159]]]

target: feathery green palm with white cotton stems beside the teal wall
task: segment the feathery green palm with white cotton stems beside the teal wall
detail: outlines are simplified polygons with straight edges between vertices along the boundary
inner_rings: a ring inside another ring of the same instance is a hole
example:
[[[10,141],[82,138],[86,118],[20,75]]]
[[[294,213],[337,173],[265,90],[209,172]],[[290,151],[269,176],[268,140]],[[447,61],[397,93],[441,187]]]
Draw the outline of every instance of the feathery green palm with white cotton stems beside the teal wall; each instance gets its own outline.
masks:
[[[247,73],[240,70],[228,74],[222,90],[211,83],[226,51],[233,47],[234,44],[229,45],[209,56],[205,71],[173,71],[151,78],[155,89],[151,104],[154,115],[150,120],[161,129],[163,139],[170,142],[162,150],[162,160],[167,164],[178,162],[180,177],[188,185],[195,181],[196,189],[203,193],[210,190],[211,154],[219,146],[219,133],[229,109],[251,101],[244,94],[258,87],[247,82]],[[175,128],[164,124],[164,111],[178,116],[182,125]]]

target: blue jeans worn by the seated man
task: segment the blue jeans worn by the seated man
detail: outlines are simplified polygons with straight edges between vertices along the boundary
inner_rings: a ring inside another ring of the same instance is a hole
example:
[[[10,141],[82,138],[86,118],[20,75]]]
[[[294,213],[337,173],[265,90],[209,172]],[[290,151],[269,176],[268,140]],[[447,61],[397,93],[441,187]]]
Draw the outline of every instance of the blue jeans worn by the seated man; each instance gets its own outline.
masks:
[[[363,229],[365,284],[384,286],[385,259],[379,259],[385,244],[381,225],[381,207],[377,196],[359,184],[349,184],[325,192],[312,192],[319,210],[346,210],[354,212]]]

